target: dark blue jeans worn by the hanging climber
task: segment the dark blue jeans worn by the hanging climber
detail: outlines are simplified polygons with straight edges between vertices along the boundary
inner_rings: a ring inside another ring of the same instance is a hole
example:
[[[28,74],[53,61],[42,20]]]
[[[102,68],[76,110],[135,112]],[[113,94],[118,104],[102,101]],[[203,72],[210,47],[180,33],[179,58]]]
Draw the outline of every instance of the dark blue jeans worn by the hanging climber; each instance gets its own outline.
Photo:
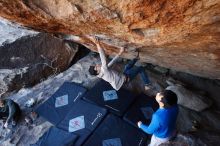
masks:
[[[147,76],[147,74],[144,71],[144,68],[142,66],[134,66],[134,64],[137,62],[138,59],[133,59],[128,62],[127,65],[125,65],[123,73],[130,79],[133,80],[139,73],[141,75],[142,80],[144,81],[144,84],[149,84],[150,80]]]

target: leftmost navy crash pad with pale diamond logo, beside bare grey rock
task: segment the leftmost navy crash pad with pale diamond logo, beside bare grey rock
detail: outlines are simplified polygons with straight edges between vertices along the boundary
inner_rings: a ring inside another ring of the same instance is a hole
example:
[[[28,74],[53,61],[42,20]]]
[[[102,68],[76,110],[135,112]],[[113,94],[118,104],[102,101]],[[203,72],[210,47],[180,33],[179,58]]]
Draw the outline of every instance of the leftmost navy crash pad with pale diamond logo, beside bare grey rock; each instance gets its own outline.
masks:
[[[36,112],[50,123],[57,125],[85,92],[86,89],[77,83],[65,82],[47,101],[36,109]],[[62,104],[62,100],[56,101],[58,98],[61,99],[60,97],[68,99],[68,103],[65,100],[64,104],[67,103],[66,105],[56,107],[57,104]]]

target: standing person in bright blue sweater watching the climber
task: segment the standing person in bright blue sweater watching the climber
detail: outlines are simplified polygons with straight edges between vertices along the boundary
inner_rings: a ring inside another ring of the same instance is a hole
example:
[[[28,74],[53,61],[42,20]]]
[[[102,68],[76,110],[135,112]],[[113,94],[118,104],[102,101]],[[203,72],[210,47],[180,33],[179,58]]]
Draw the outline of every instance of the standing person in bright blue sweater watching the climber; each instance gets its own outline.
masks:
[[[157,93],[156,101],[159,109],[153,114],[151,123],[149,125],[145,125],[141,121],[137,123],[144,132],[152,134],[148,146],[159,146],[175,136],[178,115],[177,100],[177,95],[171,90]]]

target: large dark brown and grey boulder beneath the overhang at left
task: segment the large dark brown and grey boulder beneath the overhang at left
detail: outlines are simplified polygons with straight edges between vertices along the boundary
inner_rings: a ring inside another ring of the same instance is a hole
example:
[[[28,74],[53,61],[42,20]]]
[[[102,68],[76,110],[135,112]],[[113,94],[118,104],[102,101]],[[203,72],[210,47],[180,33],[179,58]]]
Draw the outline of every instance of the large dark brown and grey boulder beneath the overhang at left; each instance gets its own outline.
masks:
[[[78,51],[49,34],[22,37],[0,47],[0,94],[29,87],[67,69]]]

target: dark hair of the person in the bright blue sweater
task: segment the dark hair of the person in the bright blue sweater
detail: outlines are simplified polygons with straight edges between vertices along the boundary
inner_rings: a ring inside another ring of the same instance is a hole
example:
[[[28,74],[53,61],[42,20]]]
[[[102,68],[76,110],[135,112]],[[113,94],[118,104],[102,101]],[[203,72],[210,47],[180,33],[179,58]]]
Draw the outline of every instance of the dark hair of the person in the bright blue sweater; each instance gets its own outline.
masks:
[[[177,95],[171,90],[164,90],[160,93],[163,98],[161,99],[161,102],[164,104],[164,107],[170,107],[177,104]]]

